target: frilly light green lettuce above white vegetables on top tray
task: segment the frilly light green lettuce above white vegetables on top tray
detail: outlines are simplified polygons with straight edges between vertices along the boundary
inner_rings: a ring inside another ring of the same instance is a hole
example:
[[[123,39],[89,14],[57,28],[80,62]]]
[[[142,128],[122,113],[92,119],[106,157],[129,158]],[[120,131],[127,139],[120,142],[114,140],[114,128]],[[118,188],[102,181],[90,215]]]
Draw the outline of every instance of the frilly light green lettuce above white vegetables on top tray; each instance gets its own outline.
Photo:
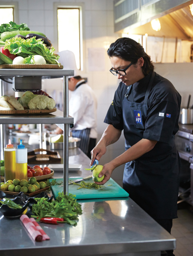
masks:
[[[58,64],[59,56],[55,56],[55,48],[47,48],[41,39],[36,40],[35,37],[26,40],[21,37],[10,38],[6,40],[4,49],[8,49],[11,54],[26,58],[26,64],[31,63],[33,55],[41,55],[47,64]]]

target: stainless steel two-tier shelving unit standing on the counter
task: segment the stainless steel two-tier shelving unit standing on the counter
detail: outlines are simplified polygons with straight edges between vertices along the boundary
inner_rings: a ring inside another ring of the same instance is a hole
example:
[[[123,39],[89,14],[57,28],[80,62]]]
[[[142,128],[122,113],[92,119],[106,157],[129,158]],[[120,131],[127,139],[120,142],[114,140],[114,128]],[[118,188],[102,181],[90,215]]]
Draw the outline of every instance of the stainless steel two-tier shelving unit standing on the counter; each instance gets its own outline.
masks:
[[[69,84],[68,77],[74,75],[73,70],[57,70],[57,69],[0,69],[0,76],[41,76],[43,79],[51,77],[63,77],[64,81],[64,116],[55,114],[40,115],[4,115],[0,114],[0,124],[64,124],[64,194],[69,193],[69,124],[73,124],[73,117],[69,117]],[[1,85],[2,86],[2,85]],[[2,91],[2,89],[1,89]],[[1,141],[0,141],[1,143]]]

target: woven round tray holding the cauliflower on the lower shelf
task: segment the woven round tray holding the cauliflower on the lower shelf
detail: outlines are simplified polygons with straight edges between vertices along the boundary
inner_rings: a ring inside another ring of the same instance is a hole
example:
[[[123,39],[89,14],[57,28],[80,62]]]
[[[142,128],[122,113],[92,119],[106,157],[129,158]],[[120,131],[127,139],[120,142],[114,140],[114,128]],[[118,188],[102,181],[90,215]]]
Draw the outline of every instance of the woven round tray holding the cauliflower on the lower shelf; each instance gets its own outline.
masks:
[[[57,109],[0,110],[0,114],[49,114]]]

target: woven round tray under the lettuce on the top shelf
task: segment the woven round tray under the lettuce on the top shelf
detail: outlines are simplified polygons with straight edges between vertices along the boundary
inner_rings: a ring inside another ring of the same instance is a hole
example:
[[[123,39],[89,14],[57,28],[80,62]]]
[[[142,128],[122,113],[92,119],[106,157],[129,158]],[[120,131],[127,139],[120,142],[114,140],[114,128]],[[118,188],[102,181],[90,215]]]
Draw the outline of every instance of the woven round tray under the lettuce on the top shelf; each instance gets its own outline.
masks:
[[[62,70],[58,64],[2,64],[0,69],[56,69]]]

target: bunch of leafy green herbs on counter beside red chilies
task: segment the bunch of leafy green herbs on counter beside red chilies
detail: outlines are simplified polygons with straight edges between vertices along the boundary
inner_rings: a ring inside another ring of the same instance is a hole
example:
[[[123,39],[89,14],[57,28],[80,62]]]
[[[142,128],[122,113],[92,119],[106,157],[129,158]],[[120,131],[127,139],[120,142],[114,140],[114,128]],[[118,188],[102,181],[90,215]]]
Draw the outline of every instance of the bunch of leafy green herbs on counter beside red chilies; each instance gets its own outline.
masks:
[[[70,225],[77,225],[78,215],[82,213],[81,205],[75,195],[58,193],[55,201],[48,202],[46,198],[36,198],[37,204],[32,205],[32,213],[38,216],[38,221],[45,217],[63,218]]]

